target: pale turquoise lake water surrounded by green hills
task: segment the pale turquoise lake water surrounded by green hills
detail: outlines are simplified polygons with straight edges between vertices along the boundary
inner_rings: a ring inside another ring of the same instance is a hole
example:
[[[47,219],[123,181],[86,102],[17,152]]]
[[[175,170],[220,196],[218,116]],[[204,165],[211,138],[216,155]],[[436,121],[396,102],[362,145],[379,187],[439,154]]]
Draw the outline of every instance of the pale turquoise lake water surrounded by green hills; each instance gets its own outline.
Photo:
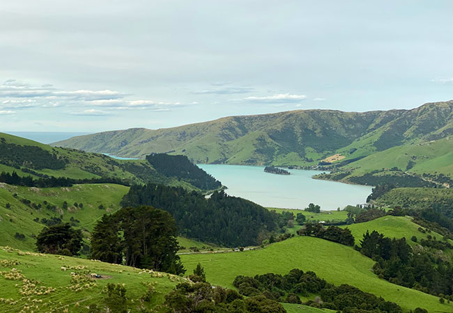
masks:
[[[228,187],[227,193],[252,200],[265,207],[303,209],[310,202],[323,210],[362,204],[370,186],[359,186],[312,179],[316,170],[289,170],[291,175],[264,172],[263,166],[201,164],[210,175]]]

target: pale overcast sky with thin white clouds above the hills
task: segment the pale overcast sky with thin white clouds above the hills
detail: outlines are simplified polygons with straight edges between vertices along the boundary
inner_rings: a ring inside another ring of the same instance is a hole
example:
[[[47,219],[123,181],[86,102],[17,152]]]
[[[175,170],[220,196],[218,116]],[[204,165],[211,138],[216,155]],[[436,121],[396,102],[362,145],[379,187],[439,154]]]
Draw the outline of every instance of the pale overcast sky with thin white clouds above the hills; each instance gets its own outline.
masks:
[[[452,1],[2,1],[0,131],[453,99]]]

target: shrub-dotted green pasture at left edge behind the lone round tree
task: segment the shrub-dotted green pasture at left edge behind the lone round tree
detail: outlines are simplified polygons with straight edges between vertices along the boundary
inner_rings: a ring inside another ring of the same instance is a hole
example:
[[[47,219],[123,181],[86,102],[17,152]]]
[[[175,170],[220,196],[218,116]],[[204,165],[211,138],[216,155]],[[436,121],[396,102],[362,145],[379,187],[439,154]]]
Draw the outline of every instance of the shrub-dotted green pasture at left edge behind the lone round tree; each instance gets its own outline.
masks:
[[[0,246],[13,246],[23,250],[34,250],[35,239],[31,236],[38,234],[43,223],[33,219],[59,217],[63,222],[70,222],[70,218],[80,221],[75,227],[91,231],[99,218],[106,213],[118,210],[121,199],[128,193],[129,187],[116,184],[83,184],[72,187],[59,188],[30,188],[0,184]],[[14,196],[17,194],[17,197]],[[27,199],[40,204],[40,209],[33,209],[21,202]],[[56,210],[46,208],[47,204],[55,205]],[[68,203],[68,209],[63,209],[63,202]],[[74,203],[83,203],[81,209]],[[10,209],[6,209],[6,204]],[[104,209],[98,209],[100,205]],[[15,239],[16,232],[25,234],[24,240]]]

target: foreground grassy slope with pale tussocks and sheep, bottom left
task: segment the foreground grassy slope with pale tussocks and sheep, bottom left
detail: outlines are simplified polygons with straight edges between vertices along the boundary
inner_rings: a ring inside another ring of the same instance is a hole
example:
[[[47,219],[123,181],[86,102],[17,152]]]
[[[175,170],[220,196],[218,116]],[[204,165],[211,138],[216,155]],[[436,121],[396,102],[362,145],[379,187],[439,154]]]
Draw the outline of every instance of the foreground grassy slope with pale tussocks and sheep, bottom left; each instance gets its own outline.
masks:
[[[152,277],[149,273],[142,273],[140,270],[129,266],[115,266],[103,262],[91,262],[88,259],[77,259],[74,257],[60,257],[58,255],[38,255],[32,252],[21,252],[12,248],[0,247],[0,262],[13,260],[20,262],[19,265],[1,267],[0,271],[10,272],[12,268],[22,271],[26,279],[33,280],[39,287],[52,287],[54,291],[47,295],[22,296],[20,290],[24,286],[22,280],[6,280],[0,275],[0,307],[1,312],[87,312],[86,307],[97,304],[104,305],[105,285],[109,282],[125,284],[128,306],[132,312],[138,312],[141,306],[139,298],[143,296],[147,287],[143,283],[153,283],[155,293],[150,303],[144,303],[148,310],[164,301],[164,295],[174,288],[178,281],[183,278],[178,276],[162,274],[162,277]],[[61,271],[61,266],[68,268],[68,271]],[[76,266],[82,269],[75,269]],[[83,287],[80,291],[74,291],[69,287],[72,285],[71,272],[86,277],[89,273],[99,273],[109,276],[108,279],[91,280],[95,286],[91,289]],[[160,275],[160,274],[157,274]],[[154,276],[157,276],[154,275]],[[35,280],[38,280],[36,282]],[[16,304],[10,305],[1,299],[13,299]],[[36,302],[42,301],[42,302]],[[33,302],[35,301],[35,302]],[[29,310],[27,306],[31,306]],[[38,305],[38,307],[34,307]],[[57,310],[58,309],[58,310]]]

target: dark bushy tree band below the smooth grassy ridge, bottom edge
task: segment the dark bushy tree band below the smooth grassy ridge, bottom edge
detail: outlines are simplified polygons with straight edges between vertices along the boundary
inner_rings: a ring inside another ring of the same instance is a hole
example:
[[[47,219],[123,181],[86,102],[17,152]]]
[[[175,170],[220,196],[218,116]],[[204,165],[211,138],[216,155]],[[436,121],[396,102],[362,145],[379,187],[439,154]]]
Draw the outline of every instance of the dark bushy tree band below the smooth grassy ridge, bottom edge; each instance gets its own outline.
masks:
[[[402,312],[396,303],[385,301],[348,284],[336,287],[318,278],[312,271],[304,272],[297,268],[286,275],[239,275],[233,285],[244,296],[261,296],[286,303],[302,303],[300,296],[315,294],[318,295],[315,300],[308,300],[304,304],[341,312]]]

